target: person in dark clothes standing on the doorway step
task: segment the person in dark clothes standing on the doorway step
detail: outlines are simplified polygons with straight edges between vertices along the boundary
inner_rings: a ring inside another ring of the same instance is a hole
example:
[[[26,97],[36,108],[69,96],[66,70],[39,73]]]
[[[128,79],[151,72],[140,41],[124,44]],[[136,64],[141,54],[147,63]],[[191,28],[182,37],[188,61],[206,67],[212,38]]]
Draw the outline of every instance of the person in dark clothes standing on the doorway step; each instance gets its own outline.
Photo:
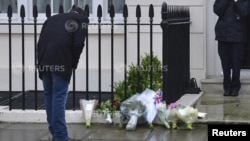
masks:
[[[218,41],[224,75],[224,96],[238,96],[241,88],[241,61],[247,42],[246,16],[250,12],[250,3],[249,0],[215,0],[213,10],[218,16],[215,39]]]

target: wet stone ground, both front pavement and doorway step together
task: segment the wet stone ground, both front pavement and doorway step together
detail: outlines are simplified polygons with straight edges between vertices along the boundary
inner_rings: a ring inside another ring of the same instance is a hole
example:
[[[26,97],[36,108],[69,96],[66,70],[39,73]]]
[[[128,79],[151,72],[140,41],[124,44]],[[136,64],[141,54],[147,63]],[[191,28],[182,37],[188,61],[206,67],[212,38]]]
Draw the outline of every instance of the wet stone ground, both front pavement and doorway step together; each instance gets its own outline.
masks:
[[[250,124],[250,94],[224,97],[221,93],[203,94],[194,107],[207,113],[197,119],[192,130],[166,129],[154,124],[138,124],[134,131],[119,129],[118,124],[68,124],[69,136],[79,141],[208,141],[208,124]],[[1,114],[0,114],[1,116]],[[51,136],[45,123],[0,123],[0,141],[49,141]]]

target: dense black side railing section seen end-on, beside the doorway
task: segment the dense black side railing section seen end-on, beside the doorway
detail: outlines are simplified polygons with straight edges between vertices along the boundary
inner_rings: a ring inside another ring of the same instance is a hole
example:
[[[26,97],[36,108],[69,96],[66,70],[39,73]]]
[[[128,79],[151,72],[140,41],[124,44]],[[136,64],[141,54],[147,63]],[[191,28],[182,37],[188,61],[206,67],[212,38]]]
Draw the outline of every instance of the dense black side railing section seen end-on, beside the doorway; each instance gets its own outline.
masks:
[[[167,104],[181,98],[190,77],[190,15],[184,6],[162,4],[163,98]]]

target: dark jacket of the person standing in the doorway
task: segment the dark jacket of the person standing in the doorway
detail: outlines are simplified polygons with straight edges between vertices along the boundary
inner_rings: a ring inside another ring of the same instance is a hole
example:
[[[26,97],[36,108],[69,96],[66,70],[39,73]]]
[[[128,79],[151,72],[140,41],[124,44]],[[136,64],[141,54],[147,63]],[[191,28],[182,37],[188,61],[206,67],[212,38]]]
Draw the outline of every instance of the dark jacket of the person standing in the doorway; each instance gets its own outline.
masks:
[[[249,0],[238,0],[245,4]],[[215,39],[225,42],[240,42],[247,41],[247,21],[246,16],[241,16],[237,12],[240,8],[247,15],[250,11],[250,5],[242,5],[238,7],[234,0],[216,0],[213,5],[214,13],[218,16],[218,21],[215,25]]]

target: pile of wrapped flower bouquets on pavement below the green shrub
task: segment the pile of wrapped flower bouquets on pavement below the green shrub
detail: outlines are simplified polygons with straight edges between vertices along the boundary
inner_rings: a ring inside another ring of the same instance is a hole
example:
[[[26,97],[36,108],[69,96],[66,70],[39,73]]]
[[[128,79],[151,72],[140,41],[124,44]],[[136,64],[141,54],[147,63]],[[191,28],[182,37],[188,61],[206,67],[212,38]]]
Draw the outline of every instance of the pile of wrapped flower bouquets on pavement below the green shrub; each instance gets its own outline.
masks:
[[[177,103],[167,105],[162,95],[161,90],[146,89],[123,101],[120,105],[120,128],[127,121],[126,130],[135,130],[141,117],[149,128],[153,128],[153,121],[158,117],[167,129],[178,129],[179,123],[184,123],[186,129],[193,129],[192,124],[198,119],[198,110]]]

